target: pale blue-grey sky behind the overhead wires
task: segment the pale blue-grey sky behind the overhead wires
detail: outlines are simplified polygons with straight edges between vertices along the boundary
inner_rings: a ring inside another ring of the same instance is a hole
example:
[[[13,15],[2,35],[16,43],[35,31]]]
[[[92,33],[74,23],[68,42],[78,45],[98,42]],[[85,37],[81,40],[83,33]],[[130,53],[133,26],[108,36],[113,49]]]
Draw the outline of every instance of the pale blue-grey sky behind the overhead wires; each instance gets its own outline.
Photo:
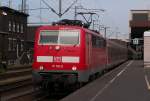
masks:
[[[8,5],[9,0],[0,0],[1,5]],[[12,7],[18,9],[18,5],[22,0],[12,0]],[[45,0],[50,6],[58,11],[58,0]],[[62,0],[63,10],[73,2],[73,0]],[[27,0],[29,8],[39,8],[40,0]],[[105,9],[105,12],[100,12],[100,24],[109,26],[108,36],[122,37],[128,36],[129,18],[131,9],[148,9],[150,10],[150,0],[78,0],[78,5],[81,4],[85,8]],[[46,7],[42,3],[42,7]],[[40,21],[40,11],[30,11],[29,22]],[[74,18],[74,10],[71,9],[63,18]],[[95,17],[96,18],[96,17]],[[59,20],[58,16],[50,10],[42,10],[42,21],[53,22]],[[114,33],[120,32],[120,35]],[[111,35],[112,34],[112,35]]]

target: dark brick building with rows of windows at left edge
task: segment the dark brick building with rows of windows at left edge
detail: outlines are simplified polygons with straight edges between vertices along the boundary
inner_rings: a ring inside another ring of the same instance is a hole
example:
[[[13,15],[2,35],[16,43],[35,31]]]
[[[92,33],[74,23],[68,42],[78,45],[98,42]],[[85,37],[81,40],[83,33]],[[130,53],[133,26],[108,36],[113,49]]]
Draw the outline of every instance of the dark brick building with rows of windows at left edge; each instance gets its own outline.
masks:
[[[0,61],[6,64],[20,63],[27,51],[28,14],[0,7]]]

